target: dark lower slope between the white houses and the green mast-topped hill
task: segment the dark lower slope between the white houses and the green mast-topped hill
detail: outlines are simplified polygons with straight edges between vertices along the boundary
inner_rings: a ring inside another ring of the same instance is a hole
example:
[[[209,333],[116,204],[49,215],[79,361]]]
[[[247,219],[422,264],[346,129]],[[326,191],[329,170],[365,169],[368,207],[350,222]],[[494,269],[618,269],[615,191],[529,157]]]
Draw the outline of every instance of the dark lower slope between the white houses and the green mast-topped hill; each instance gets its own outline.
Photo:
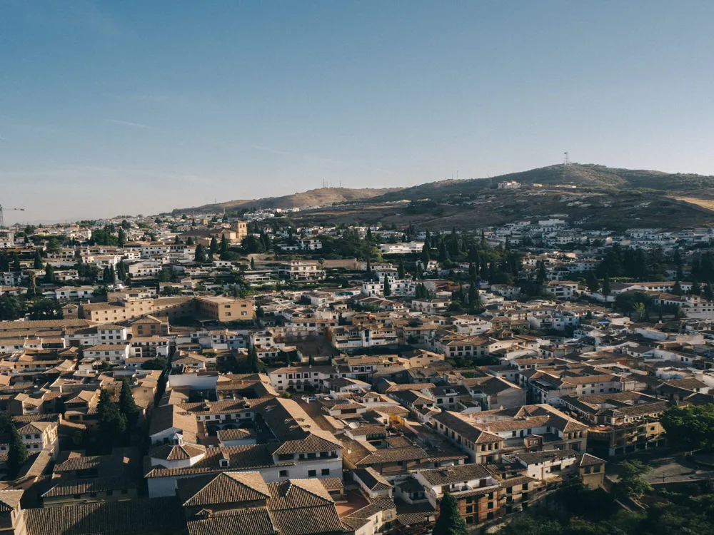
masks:
[[[473,200],[423,203],[381,202],[306,210],[291,218],[298,225],[396,225],[449,230],[478,229],[520,220],[563,217],[580,228],[625,230],[652,227],[675,230],[714,224],[714,210],[666,195],[600,193],[543,188],[488,190]]]

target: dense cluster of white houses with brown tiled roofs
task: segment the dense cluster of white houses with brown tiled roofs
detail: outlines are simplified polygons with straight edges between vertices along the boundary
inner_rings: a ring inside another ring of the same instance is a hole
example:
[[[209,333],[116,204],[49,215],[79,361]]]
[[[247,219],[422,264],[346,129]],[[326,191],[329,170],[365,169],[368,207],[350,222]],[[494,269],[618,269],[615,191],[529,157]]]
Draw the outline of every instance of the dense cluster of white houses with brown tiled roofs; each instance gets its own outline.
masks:
[[[45,251],[55,273],[81,258],[126,262],[132,277],[98,296],[98,285],[70,283],[69,273],[67,284],[44,287],[63,319],[0,322],[0,409],[29,452],[0,489],[8,533],[426,534],[446,493],[468,526],[488,526],[549,489],[602,486],[606,462],[668,446],[658,419],[667,407],[714,402],[714,305],[670,293],[673,280],[613,283],[602,295],[570,280],[596,260],[541,252],[524,269],[545,266],[548,298],[517,300],[516,287],[476,280],[482,311],[473,314],[451,307],[468,284],[449,275],[468,265],[430,260],[419,281],[388,262],[206,267],[196,246],[236,243],[245,223],[174,223],[193,245],[171,233],[140,241],[133,224],[121,247]],[[77,240],[91,232],[62,230]],[[285,235],[278,248],[320,250],[320,233]],[[680,234],[578,240],[645,247],[702,235]],[[483,236],[573,238],[557,215]],[[419,238],[383,243],[381,253],[418,253]],[[30,263],[1,274],[4,291],[33,276]],[[147,283],[163,270],[181,272],[180,282]],[[334,270],[348,284],[326,283]],[[250,297],[226,292],[219,274],[234,271],[257,288]],[[268,289],[271,281],[297,286]],[[630,291],[685,313],[640,322],[608,307]],[[147,446],[95,454],[84,438],[97,432],[101,392],[118,402],[125,379]],[[6,476],[9,448],[0,437]]]

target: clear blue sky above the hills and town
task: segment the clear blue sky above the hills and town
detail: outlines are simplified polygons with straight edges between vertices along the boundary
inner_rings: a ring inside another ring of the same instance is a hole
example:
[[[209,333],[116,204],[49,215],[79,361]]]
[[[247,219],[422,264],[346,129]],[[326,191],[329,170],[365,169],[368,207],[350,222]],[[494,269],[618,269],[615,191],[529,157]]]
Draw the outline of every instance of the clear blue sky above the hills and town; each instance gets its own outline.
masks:
[[[0,0],[0,203],[159,213],[563,151],[714,174],[712,20],[709,0]]]

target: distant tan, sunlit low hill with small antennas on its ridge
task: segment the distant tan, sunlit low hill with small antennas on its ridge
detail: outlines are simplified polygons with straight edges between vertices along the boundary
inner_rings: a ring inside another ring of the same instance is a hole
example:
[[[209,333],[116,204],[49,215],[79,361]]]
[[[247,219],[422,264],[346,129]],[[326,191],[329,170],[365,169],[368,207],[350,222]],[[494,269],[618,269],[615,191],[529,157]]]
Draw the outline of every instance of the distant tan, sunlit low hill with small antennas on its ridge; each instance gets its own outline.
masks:
[[[236,208],[308,208],[308,206],[326,206],[347,201],[366,200],[388,193],[396,193],[399,188],[318,188],[282,197],[262,199],[228,200],[226,203],[207,204],[196,208],[176,208],[174,213],[211,213]]]

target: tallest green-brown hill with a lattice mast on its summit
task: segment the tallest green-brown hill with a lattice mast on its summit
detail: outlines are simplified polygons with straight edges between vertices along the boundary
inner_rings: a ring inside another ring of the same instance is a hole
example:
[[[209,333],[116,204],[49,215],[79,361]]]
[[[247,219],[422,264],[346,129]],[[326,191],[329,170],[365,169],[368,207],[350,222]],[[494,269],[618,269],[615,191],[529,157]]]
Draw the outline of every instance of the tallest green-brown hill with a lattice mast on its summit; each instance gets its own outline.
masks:
[[[615,193],[618,190],[631,191],[633,189],[650,193],[685,193],[714,187],[714,176],[618,169],[592,163],[571,163],[570,165],[550,165],[491,178],[441,180],[440,182],[416,185],[397,192],[386,193],[371,201],[419,200],[426,198],[446,200],[454,196],[468,197],[483,193],[483,190],[495,189],[499,182],[508,180],[516,180],[516,182],[524,185],[575,185],[578,189],[603,193]]]

